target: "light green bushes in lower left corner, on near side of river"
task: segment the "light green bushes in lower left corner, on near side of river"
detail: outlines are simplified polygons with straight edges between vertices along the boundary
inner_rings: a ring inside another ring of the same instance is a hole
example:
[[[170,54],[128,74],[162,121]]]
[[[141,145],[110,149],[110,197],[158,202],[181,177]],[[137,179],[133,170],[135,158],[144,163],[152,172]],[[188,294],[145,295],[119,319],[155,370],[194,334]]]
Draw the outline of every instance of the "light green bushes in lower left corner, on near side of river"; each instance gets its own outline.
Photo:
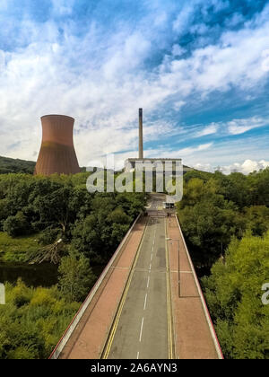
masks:
[[[0,306],[0,359],[43,359],[63,335],[80,304],[67,302],[56,288],[5,284]]]

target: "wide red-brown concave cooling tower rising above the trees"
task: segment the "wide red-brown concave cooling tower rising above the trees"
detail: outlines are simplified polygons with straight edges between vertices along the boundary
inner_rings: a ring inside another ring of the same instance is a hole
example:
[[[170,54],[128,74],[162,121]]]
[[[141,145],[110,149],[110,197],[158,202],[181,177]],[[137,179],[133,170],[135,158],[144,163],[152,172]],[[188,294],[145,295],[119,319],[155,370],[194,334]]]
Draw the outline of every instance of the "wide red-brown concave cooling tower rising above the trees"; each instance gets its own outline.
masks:
[[[42,145],[34,174],[75,174],[80,172],[74,151],[74,118],[46,115],[41,118]]]

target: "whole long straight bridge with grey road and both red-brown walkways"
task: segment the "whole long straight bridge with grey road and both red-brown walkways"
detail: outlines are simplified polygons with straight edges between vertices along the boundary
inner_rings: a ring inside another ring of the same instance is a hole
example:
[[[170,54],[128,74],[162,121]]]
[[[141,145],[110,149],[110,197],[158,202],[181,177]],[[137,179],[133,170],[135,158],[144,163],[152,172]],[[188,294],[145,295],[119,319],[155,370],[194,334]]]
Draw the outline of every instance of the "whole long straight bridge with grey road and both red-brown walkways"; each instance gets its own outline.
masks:
[[[51,358],[223,357],[178,218],[162,202],[152,197]]]

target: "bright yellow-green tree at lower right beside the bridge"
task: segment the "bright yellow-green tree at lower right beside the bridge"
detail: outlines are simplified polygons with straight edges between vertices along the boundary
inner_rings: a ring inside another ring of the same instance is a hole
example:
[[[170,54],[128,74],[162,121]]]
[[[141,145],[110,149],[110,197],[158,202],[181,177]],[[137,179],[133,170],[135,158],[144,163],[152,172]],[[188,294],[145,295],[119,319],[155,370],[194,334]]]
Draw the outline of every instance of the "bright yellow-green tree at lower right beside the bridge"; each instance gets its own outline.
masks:
[[[262,302],[268,282],[269,232],[234,239],[225,260],[203,278],[222,350],[227,358],[269,359],[269,305]]]

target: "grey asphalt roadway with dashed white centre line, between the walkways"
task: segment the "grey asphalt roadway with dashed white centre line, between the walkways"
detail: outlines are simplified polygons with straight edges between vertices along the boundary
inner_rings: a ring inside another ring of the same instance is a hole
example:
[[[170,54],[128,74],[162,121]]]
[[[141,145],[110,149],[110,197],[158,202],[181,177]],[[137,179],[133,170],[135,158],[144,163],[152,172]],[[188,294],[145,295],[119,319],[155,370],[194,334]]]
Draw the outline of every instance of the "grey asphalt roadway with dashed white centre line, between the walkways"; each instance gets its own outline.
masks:
[[[165,219],[150,218],[107,345],[108,359],[168,359],[170,317]]]

